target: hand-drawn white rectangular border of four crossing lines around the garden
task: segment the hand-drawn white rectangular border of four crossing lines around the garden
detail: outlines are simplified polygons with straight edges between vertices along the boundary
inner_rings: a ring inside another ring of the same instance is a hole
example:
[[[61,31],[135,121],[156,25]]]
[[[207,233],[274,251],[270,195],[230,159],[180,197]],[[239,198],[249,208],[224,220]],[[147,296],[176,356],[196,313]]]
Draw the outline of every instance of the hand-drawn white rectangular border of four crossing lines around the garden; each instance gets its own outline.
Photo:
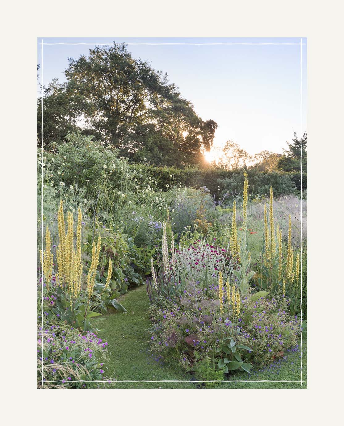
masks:
[[[301,354],[301,367],[300,367],[300,380],[72,380],[72,382],[98,382],[98,383],[121,383],[121,382],[149,382],[149,383],[156,383],[156,382],[188,382],[188,383],[204,383],[204,382],[222,382],[222,383],[228,383],[228,382],[300,382],[300,387],[302,387],[302,383],[304,380],[302,380],[302,46],[306,43],[302,43],[302,37],[300,38],[300,43],[43,43],[43,39],[41,40],[41,168],[42,168],[42,197],[41,197],[41,224],[42,224],[42,230],[41,230],[41,245],[42,245],[42,257],[41,257],[41,264],[43,265],[43,45],[57,45],[57,44],[63,44],[63,45],[90,45],[90,46],[113,46],[120,45],[120,44],[126,44],[126,45],[200,45],[200,46],[206,46],[206,45],[295,45],[300,46],[300,144],[301,144],[301,155],[300,155],[300,175],[301,175],[301,191],[300,191],[300,311],[301,311],[301,340],[300,340],[300,354]],[[41,305],[41,315],[42,315],[42,331],[43,331],[43,285],[42,285],[42,305]],[[51,383],[51,382],[62,382],[62,380],[43,380],[43,340],[42,340],[42,380],[40,380],[42,383]]]

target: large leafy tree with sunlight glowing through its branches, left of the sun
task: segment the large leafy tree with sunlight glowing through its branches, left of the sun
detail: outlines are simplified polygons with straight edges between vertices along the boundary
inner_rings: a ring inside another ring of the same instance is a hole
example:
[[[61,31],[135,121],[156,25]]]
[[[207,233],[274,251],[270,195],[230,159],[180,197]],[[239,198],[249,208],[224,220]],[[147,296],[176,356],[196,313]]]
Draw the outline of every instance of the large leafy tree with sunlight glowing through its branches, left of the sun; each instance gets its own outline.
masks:
[[[61,132],[79,127],[130,158],[179,166],[198,163],[212,145],[217,124],[199,118],[166,74],[134,59],[124,44],[69,58],[65,75],[66,83],[55,81],[45,94],[49,136],[61,140]]]

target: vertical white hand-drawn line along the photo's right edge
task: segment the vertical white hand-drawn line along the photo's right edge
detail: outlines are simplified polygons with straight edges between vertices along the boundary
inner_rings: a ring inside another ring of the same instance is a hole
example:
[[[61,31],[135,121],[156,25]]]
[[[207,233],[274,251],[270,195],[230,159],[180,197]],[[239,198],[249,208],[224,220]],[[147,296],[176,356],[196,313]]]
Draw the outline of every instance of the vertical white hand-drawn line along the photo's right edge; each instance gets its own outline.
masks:
[[[300,328],[301,328],[301,340],[300,340],[300,352],[301,352],[301,385],[302,385],[302,38],[300,39],[300,176],[301,176],[301,190],[300,190],[300,287],[301,287],[301,295],[300,295],[300,312],[301,312],[301,320],[300,320]]]

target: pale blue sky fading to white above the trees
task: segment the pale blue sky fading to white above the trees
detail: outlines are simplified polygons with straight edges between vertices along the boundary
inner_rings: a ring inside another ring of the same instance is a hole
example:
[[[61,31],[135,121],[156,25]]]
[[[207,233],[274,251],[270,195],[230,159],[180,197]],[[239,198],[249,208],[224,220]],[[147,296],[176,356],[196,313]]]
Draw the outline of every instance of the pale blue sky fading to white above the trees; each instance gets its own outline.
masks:
[[[91,43],[43,44],[43,43]],[[208,160],[231,140],[249,154],[282,153],[301,132],[301,37],[294,38],[38,38],[43,84],[65,81],[68,58],[87,55],[101,43],[129,43],[134,58],[167,72],[202,120],[217,122]],[[130,44],[152,43],[152,44]],[[157,44],[156,44],[157,43]],[[165,44],[159,44],[165,43]],[[168,44],[167,44],[168,43]],[[174,44],[196,43],[196,44]],[[202,44],[254,43],[254,44]],[[296,44],[257,44],[296,43]],[[306,37],[302,37],[302,132],[306,131]],[[93,45],[92,45],[93,44]],[[39,72],[39,74],[40,74]],[[41,75],[39,77],[41,81]]]

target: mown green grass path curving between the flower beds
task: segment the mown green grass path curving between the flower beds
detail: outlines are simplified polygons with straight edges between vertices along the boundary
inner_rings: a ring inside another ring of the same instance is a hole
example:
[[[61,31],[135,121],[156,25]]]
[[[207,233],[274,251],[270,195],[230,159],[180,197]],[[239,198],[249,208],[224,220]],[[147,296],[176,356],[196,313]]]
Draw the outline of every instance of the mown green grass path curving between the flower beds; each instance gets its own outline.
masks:
[[[149,299],[145,285],[129,291],[121,296],[120,302],[127,309],[127,313],[116,312],[105,315],[101,322],[101,331],[98,336],[108,342],[109,361],[106,363],[106,374],[112,375],[117,380],[190,380],[186,373],[177,364],[157,360],[157,356],[149,351],[150,327],[148,314]],[[303,380],[306,380],[306,342],[303,340]],[[252,370],[251,375],[245,372],[233,374],[231,380],[300,380],[300,352],[286,352],[287,358],[279,360],[270,366]],[[147,388],[173,388],[196,389],[201,383],[191,382],[122,382],[115,383],[112,387],[121,389],[147,389]],[[218,383],[218,388],[299,388],[299,383],[273,383],[273,382],[227,382]],[[306,388],[306,382],[302,388]]]

